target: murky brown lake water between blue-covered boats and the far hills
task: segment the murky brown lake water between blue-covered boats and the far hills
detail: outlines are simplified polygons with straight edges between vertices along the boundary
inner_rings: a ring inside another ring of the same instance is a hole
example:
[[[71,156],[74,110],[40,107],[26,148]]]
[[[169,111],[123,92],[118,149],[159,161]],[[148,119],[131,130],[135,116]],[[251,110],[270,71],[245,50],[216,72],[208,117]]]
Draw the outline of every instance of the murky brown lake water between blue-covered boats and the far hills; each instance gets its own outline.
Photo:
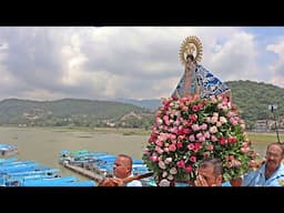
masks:
[[[58,168],[62,175],[75,175],[58,163],[61,150],[87,149],[92,152],[124,153],[141,159],[149,135],[67,131],[57,128],[0,128],[0,143],[16,144],[20,160],[32,160],[49,168]]]

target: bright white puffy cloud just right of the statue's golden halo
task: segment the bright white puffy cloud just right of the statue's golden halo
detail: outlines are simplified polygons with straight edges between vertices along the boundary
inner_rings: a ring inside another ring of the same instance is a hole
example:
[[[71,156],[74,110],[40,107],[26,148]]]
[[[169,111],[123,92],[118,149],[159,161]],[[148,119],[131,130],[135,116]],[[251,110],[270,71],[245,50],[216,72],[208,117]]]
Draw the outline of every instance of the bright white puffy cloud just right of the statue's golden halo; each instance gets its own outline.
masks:
[[[235,32],[223,44],[213,44],[215,52],[206,61],[207,68],[223,81],[257,80],[257,49],[252,34]]]

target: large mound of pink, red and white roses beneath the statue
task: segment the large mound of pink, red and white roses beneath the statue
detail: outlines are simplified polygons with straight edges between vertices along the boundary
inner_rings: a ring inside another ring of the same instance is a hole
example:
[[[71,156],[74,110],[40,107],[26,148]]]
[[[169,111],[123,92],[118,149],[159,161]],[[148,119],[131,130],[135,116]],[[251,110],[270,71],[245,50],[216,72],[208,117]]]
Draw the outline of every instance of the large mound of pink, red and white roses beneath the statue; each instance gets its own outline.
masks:
[[[239,114],[222,95],[164,99],[142,159],[161,184],[193,182],[205,158],[222,160],[224,181],[240,178],[256,165],[258,154]]]

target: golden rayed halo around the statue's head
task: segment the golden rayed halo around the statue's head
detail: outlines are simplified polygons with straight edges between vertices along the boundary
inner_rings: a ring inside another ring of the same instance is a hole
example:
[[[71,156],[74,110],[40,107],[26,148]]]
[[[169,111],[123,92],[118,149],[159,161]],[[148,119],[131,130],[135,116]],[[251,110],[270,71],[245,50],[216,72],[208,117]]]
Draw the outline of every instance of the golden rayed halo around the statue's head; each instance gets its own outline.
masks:
[[[186,37],[181,45],[180,60],[184,65],[186,62],[186,55],[193,54],[196,62],[201,62],[202,58],[202,43],[195,36]]]

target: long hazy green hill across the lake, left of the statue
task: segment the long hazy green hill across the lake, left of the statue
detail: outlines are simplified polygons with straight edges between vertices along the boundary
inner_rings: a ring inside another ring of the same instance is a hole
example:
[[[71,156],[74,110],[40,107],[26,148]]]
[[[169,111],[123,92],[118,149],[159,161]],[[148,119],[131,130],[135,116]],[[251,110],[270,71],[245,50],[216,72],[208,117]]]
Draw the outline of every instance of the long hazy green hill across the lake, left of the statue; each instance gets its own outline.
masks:
[[[126,116],[128,114],[132,116]],[[79,99],[42,102],[18,99],[0,101],[2,125],[108,126],[115,123],[115,125],[129,126],[128,121],[133,120],[133,116],[143,120],[151,118],[152,113],[144,108],[112,101]]]

